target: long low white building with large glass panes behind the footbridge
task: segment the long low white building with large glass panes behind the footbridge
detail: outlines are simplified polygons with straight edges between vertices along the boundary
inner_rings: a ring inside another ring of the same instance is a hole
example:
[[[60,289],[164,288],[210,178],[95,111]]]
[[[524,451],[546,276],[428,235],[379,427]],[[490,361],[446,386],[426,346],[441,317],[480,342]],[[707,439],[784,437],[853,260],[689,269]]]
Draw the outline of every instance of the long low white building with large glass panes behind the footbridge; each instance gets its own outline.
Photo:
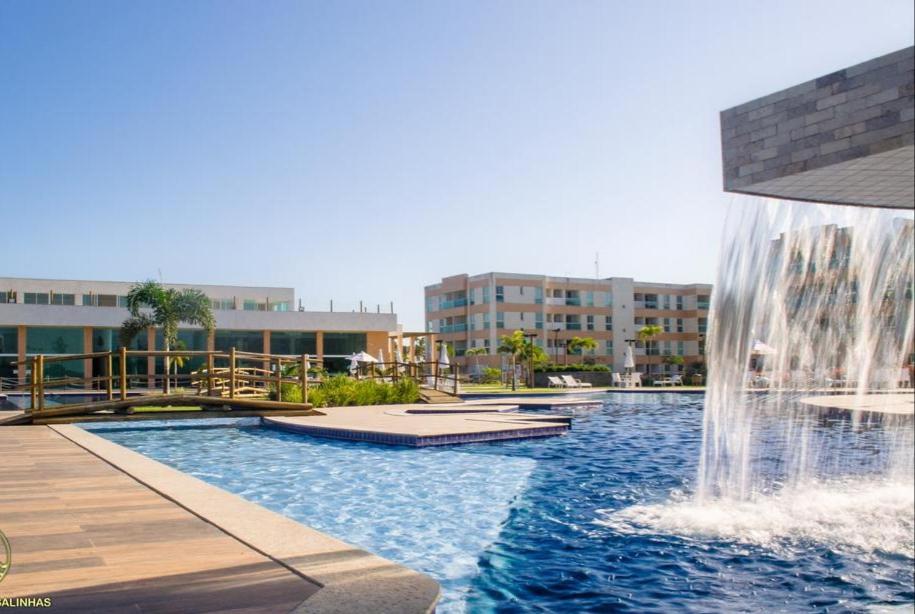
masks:
[[[0,377],[17,376],[11,364],[35,354],[103,352],[118,347],[118,329],[128,316],[127,293],[132,283],[0,277]],[[309,354],[324,361],[330,371],[344,371],[345,357],[366,351],[387,351],[398,331],[393,313],[317,312],[294,308],[292,288],[163,284],[194,288],[210,298],[216,329],[207,335],[196,327],[182,327],[178,338],[188,350],[228,350]],[[130,349],[163,349],[162,333],[154,329],[139,335]],[[129,359],[131,375],[161,373],[155,360]],[[60,365],[57,376],[91,377],[102,366],[93,360]],[[184,371],[199,366],[185,363]]]

